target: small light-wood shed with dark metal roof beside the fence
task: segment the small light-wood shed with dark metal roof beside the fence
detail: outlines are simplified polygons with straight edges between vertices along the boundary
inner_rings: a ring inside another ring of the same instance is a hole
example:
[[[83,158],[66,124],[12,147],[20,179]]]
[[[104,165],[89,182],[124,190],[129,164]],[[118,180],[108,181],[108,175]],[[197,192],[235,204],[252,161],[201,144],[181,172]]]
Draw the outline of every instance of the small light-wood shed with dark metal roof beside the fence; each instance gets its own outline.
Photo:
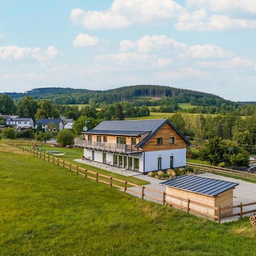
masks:
[[[216,207],[233,205],[233,189],[238,185],[198,175],[183,175],[163,181],[161,184],[166,185],[167,204],[181,209],[187,209],[189,205],[192,213],[201,213],[205,216],[216,216]],[[221,215],[232,214],[232,210],[221,210]]]

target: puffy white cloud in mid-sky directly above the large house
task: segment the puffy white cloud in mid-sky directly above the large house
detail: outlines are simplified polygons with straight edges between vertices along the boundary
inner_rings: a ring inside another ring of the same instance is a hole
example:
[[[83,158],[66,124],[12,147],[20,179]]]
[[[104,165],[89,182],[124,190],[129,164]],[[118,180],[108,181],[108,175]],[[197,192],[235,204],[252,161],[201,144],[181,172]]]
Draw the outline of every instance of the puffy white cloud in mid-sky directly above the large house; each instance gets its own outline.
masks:
[[[163,51],[164,49],[173,48],[182,51],[187,48],[184,43],[179,43],[166,35],[143,36],[137,41],[122,40],[120,42],[121,51],[138,50],[139,52]]]

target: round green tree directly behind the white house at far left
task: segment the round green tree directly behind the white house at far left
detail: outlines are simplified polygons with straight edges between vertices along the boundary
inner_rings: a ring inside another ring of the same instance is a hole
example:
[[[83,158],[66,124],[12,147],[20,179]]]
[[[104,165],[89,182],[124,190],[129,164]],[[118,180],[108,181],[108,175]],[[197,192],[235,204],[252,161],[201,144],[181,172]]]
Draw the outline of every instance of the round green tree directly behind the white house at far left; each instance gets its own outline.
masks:
[[[36,110],[39,108],[38,102],[31,96],[26,96],[16,104],[17,113],[20,117],[35,117]]]

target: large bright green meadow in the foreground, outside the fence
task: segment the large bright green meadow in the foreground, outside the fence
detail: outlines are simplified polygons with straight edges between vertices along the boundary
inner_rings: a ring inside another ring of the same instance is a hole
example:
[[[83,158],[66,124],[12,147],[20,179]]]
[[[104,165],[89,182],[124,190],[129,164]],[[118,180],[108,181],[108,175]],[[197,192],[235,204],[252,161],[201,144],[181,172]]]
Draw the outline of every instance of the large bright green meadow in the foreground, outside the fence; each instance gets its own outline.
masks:
[[[255,255],[248,218],[217,224],[0,144],[0,255]]]

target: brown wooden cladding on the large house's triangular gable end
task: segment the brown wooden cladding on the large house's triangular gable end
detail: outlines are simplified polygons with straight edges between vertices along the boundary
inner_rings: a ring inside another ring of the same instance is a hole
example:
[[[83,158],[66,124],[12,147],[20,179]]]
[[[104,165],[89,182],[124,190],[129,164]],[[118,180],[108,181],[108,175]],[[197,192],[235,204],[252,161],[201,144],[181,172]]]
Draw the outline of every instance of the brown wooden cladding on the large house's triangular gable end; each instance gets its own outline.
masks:
[[[170,144],[170,137],[174,143]],[[162,138],[162,144],[158,144],[159,138]],[[151,139],[144,144],[142,147],[143,151],[157,151],[157,150],[171,150],[178,148],[185,148],[187,144],[184,139],[181,138],[179,134],[168,124],[166,123]]]

